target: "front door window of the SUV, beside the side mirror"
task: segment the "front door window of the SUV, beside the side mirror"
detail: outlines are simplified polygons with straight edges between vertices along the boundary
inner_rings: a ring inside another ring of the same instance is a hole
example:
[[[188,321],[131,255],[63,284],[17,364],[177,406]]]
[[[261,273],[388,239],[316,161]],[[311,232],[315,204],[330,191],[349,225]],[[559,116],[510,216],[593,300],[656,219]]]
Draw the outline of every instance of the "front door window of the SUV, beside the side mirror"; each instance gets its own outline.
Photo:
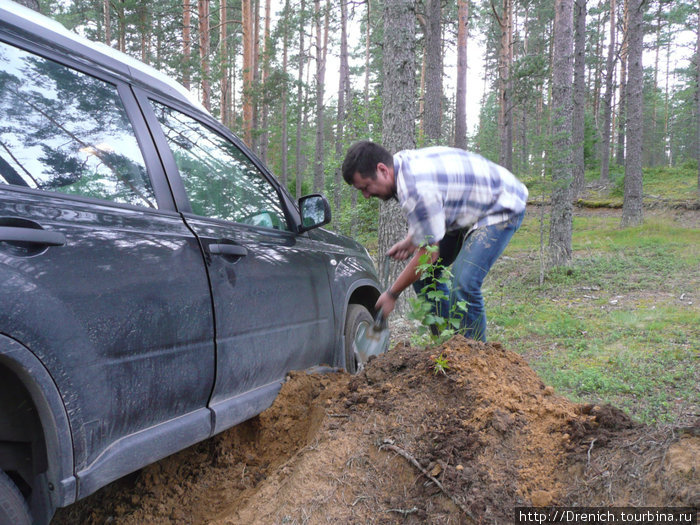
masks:
[[[235,144],[199,121],[151,101],[197,215],[289,230],[279,195]]]

